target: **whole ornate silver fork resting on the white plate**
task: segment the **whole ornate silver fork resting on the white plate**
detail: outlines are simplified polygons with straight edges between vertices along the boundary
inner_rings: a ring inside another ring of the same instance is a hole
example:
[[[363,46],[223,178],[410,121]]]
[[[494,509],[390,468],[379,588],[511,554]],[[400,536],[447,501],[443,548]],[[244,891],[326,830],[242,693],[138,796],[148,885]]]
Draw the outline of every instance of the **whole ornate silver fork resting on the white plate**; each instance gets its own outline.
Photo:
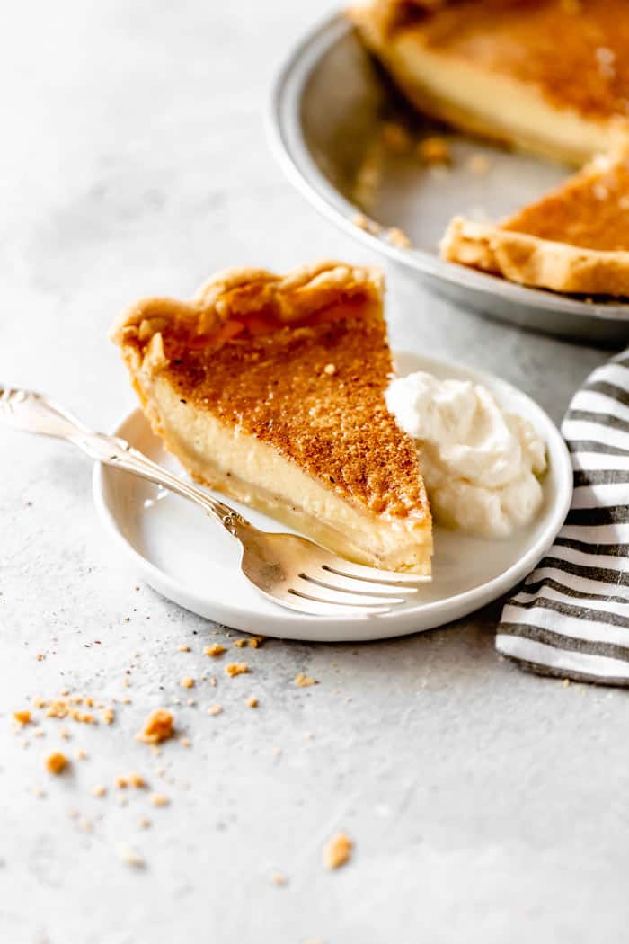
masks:
[[[383,615],[429,578],[352,564],[294,534],[259,531],[223,501],[152,462],[117,436],[93,432],[47,396],[0,386],[0,418],[16,430],[74,443],[92,459],[189,498],[240,541],[240,569],[265,597],[317,616]]]

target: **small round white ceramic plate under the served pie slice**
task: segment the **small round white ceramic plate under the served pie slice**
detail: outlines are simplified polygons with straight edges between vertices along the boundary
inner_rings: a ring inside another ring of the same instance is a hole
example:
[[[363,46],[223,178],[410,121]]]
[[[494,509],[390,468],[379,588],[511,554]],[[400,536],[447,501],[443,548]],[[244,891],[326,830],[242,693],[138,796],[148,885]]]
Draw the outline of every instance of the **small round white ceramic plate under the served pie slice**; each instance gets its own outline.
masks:
[[[246,632],[317,642],[382,639],[430,630],[486,605],[521,581],[561,528],[571,503],[572,468],[566,445],[550,417],[504,380],[460,364],[398,354],[400,374],[426,370],[438,377],[472,379],[493,391],[502,406],[531,421],[548,447],[544,504],[537,521],[507,540],[467,537],[435,530],[433,580],[394,612],[333,619],[293,613],[263,598],[240,574],[239,546],[226,531],[183,498],[120,469],[96,465],[96,508],[134,571],[152,587],[193,613]],[[158,463],[176,468],[140,410],[116,430]],[[233,504],[258,527],[284,531],[270,518]]]

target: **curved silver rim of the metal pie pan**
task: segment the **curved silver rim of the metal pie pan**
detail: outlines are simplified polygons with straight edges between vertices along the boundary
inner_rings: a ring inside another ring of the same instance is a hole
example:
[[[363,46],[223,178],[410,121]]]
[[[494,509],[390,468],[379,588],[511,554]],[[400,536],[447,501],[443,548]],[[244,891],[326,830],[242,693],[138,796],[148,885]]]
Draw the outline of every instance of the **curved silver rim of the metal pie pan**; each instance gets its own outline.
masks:
[[[505,302],[531,309],[614,324],[629,321],[629,305],[613,302],[590,304],[517,285],[498,276],[441,260],[422,249],[401,249],[352,223],[357,208],[332,186],[312,159],[301,134],[298,114],[308,76],[334,43],[344,39],[354,28],[343,13],[335,13],[311,27],[281,63],[273,80],[266,121],[269,140],[284,173],[308,202],[353,239],[424,277],[436,278],[475,293],[495,295]]]

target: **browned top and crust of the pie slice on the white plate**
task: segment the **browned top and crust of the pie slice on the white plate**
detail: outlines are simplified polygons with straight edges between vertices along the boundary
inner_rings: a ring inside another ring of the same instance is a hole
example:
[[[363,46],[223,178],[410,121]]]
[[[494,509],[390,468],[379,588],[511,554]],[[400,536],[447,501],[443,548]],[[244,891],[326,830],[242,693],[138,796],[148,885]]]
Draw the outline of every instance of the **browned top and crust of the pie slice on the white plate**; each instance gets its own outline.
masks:
[[[232,270],[230,288],[215,277],[190,305],[140,302],[113,339],[127,360],[153,359],[182,400],[277,448],[341,497],[375,514],[429,520],[416,449],[385,403],[392,364],[381,278],[339,263],[306,272],[301,313],[280,285],[296,273],[258,272],[256,304],[250,270]]]

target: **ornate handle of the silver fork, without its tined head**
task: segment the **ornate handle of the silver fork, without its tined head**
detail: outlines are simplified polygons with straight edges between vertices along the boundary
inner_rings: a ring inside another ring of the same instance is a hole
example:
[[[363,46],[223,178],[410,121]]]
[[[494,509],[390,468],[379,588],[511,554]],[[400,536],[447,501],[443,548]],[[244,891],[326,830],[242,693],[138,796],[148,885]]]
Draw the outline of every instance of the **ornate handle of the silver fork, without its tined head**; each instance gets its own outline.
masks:
[[[129,446],[124,439],[89,430],[72,413],[68,413],[41,394],[0,386],[0,419],[5,419],[16,430],[54,436],[74,443],[74,446],[82,449],[97,462],[135,473],[142,479],[162,485],[176,495],[189,498],[231,534],[237,535],[240,529],[251,528],[238,512],[222,501],[152,462],[138,449]]]

